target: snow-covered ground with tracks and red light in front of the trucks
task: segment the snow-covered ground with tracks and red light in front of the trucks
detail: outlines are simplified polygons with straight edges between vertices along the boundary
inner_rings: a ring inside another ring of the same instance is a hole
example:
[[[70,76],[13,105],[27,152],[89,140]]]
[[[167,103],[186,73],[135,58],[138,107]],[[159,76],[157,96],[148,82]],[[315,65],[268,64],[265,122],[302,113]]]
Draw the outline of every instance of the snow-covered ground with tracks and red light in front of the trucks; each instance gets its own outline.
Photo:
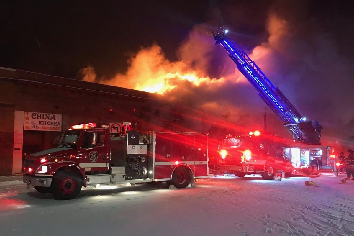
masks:
[[[189,189],[83,188],[68,201],[0,184],[0,235],[353,236],[354,181],[339,184],[344,175],[332,175],[310,179],[319,187],[305,186],[305,177],[246,175]]]

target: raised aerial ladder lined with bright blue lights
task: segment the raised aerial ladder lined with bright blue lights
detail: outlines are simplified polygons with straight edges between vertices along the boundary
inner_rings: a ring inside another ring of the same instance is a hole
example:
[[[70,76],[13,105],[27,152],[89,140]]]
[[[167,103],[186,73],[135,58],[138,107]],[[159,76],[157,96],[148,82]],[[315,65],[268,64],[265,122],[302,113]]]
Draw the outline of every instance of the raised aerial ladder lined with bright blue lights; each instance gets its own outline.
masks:
[[[310,126],[307,122],[304,122],[306,118],[296,110],[279,88],[269,81],[263,71],[227,33],[228,30],[223,27],[219,28],[218,31],[213,31],[212,35],[216,44],[221,44],[225,48],[239,71],[256,88],[259,97],[285,123],[284,126],[292,133],[294,141],[321,144],[320,133],[322,127],[319,123],[315,122],[315,126]]]

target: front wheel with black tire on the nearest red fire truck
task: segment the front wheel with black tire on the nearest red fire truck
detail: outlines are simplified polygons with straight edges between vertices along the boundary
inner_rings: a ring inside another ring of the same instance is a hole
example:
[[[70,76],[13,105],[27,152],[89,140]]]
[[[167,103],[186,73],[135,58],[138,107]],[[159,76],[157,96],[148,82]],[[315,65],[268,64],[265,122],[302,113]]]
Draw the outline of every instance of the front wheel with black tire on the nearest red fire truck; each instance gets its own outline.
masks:
[[[73,171],[62,171],[53,177],[52,194],[58,200],[69,200],[78,196],[83,185],[82,178]]]

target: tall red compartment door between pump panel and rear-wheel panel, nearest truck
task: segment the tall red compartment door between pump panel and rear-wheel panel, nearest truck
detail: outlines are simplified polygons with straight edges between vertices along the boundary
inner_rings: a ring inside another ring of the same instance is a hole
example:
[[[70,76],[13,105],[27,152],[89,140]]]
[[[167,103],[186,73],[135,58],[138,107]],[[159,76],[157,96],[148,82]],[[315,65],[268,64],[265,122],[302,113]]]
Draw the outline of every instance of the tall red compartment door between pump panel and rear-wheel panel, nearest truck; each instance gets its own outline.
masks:
[[[171,178],[171,134],[155,133],[155,172],[153,179]]]

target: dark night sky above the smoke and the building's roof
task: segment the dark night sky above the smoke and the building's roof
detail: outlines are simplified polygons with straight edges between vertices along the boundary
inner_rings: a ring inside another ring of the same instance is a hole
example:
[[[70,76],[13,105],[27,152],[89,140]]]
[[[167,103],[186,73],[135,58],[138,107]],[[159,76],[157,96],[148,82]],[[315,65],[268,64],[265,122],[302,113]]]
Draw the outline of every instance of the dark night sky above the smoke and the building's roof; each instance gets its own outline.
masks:
[[[354,52],[353,46],[348,47],[353,40],[353,22],[347,20],[350,16],[353,20],[349,2],[121,2],[2,1],[0,66],[75,77],[81,68],[92,65],[99,76],[110,77],[126,70],[131,53],[153,42],[167,58],[176,59],[176,48],[188,31],[205,22],[211,27],[235,25],[233,30],[242,32],[237,34],[239,44],[252,48],[268,36],[264,25],[268,11],[275,9],[287,17],[291,7],[304,7],[305,15],[336,33],[344,53]]]

